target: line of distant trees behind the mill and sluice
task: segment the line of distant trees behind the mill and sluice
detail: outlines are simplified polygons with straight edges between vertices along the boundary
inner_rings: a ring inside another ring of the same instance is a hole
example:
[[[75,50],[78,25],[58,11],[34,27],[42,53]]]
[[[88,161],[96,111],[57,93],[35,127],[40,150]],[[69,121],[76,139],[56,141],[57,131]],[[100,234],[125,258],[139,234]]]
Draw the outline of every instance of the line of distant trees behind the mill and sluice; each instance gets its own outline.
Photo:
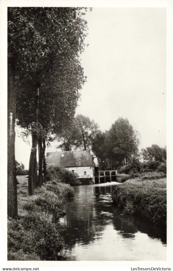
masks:
[[[166,173],[166,147],[153,144],[140,152],[140,135],[127,118],[119,117],[108,131],[101,131],[94,120],[77,115],[56,139],[60,142],[57,147],[63,151],[86,150],[96,156],[100,170]]]

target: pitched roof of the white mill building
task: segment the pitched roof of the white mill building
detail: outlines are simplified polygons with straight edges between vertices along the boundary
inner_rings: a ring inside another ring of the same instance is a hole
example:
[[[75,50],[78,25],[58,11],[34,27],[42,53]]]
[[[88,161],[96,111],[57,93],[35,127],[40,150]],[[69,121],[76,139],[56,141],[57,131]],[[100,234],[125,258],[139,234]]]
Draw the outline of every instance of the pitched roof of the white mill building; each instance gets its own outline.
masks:
[[[60,167],[92,166],[92,156],[86,151],[56,151],[47,153],[46,163]]]

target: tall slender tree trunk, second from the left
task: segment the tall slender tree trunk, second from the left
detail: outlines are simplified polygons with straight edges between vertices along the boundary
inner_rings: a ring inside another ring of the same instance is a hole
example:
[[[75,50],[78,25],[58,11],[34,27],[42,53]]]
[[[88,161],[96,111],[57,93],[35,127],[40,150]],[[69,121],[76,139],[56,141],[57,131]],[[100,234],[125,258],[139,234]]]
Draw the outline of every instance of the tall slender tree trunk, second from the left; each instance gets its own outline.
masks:
[[[34,194],[34,188],[37,187],[37,128],[38,128],[38,106],[39,106],[39,87],[36,89],[35,108],[34,108],[34,127],[32,132],[32,149],[29,162],[28,176],[28,195]]]

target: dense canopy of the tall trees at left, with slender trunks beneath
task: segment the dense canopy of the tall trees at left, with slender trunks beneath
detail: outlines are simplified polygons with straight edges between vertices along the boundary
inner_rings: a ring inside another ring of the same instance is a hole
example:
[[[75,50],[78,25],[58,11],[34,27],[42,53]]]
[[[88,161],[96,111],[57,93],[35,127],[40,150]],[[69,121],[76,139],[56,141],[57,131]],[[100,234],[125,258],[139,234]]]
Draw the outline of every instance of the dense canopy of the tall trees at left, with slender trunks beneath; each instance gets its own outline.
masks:
[[[43,141],[64,127],[74,114],[79,90],[85,82],[79,62],[87,35],[83,11],[83,8],[8,8],[8,70],[12,71],[13,79],[10,91],[14,97],[17,94],[18,124],[32,134],[30,194],[37,185],[37,140],[42,167]],[[41,185],[41,170],[39,176]]]

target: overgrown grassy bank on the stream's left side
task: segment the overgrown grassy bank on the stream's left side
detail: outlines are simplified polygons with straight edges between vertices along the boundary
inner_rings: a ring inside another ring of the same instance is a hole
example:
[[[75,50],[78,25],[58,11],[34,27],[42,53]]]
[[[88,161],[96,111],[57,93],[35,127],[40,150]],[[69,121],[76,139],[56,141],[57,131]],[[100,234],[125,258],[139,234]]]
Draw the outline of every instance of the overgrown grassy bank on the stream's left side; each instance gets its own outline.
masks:
[[[28,196],[18,192],[18,219],[8,219],[8,260],[59,260],[64,241],[59,218],[62,202],[74,195],[70,185],[47,182]]]

